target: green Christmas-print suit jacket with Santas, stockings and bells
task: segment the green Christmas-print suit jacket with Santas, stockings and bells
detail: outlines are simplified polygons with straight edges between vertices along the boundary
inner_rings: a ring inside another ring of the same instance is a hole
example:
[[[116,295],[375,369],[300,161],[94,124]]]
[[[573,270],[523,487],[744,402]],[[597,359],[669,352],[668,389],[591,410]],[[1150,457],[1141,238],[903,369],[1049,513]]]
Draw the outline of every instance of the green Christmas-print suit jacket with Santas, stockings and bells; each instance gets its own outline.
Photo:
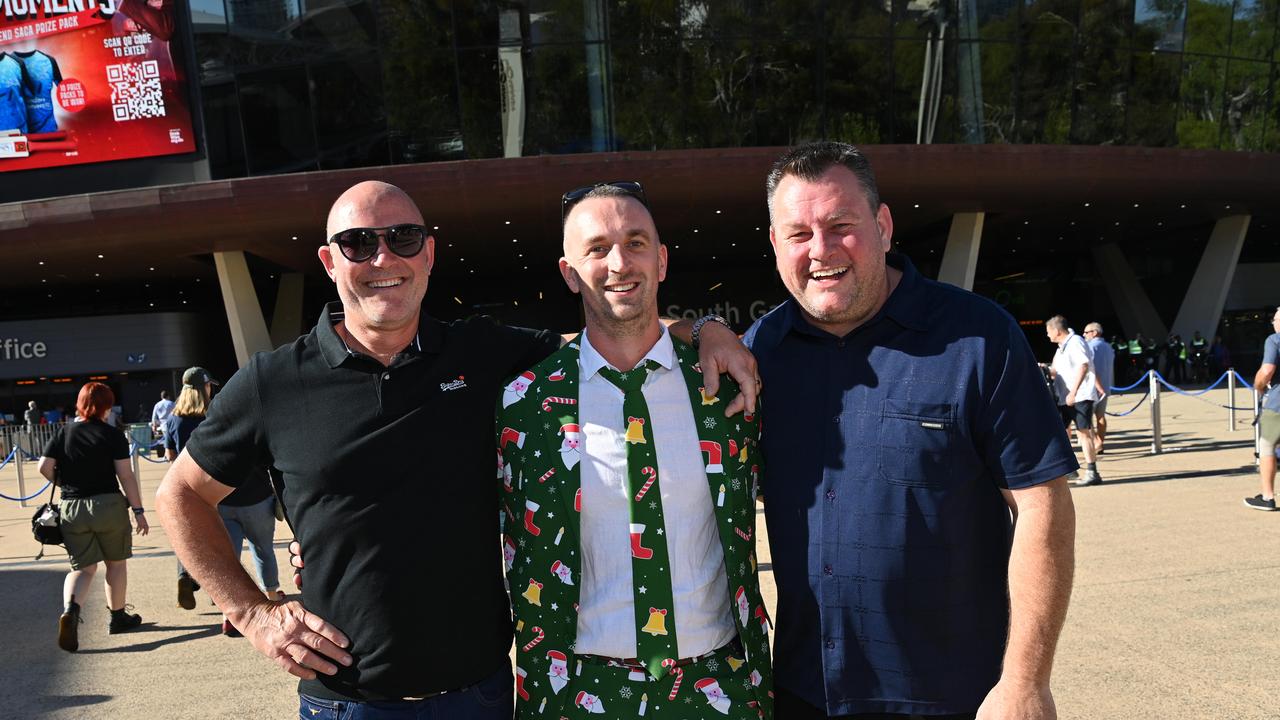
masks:
[[[576,665],[581,465],[576,462],[576,433],[563,429],[577,425],[581,340],[579,336],[517,375],[498,401],[498,478],[506,512],[503,557],[516,619],[517,717],[559,717],[562,708],[573,703],[570,693],[561,692],[563,683],[550,682],[549,675],[563,674],[566,667]],[[772,717],[769,619],[760,598],[755,560],[759,419],[741,414],[724,418],[721,400],[701,395],[696,352],[672,341],[699,424],[707,491],[724,550],[726,598],[746,651],[744,673],[754,680],[750,691],[754,697],[741,700],[758,703],[764,717]],[[732,398],[737,392],[737,384],[722,375],[719,396]],[[669,550],[672,555],[680,552]]]

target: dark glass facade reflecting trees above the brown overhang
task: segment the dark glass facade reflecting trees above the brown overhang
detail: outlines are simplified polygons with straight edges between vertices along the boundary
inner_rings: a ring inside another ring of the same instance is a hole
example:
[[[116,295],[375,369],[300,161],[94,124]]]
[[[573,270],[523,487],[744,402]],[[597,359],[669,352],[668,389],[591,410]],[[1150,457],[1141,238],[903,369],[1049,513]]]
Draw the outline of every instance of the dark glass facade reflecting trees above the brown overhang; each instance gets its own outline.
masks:
[[[614,150],[1280,150],[1277,0],[192,0],[215,177]]]

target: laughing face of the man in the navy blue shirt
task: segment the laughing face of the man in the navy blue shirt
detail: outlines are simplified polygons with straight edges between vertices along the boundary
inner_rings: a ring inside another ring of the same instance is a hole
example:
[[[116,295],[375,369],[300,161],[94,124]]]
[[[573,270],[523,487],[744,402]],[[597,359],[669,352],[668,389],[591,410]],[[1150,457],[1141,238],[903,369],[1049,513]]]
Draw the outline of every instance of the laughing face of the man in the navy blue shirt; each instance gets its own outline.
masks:
[[[778,274],[809,320],[832,334],[849,333],[884,305],[892,236],[888,206],[873,209],[844,165],[812,182],[787,176],[773,196]]]

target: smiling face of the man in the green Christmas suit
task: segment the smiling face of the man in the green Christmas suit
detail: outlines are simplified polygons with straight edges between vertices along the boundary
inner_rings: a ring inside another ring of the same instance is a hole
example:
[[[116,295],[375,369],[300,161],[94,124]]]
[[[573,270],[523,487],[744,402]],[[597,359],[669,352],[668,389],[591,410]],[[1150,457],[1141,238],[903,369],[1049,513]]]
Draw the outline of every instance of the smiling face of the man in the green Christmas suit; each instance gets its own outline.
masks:
[[[634,197],[589,197],[564,223],[561,275],[582,296],[586,327],[612,337],[660,332],[658,283],[667,247],[649,211]]]

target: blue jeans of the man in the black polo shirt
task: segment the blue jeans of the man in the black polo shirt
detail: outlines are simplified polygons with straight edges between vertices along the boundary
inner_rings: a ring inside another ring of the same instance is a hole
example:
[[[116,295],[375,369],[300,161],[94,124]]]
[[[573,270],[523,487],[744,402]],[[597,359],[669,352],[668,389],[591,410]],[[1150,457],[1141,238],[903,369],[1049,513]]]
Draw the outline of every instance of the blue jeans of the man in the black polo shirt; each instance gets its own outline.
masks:
[[[298,696],[301,720],[511,720],[516,712],[511,665],[479,683],[428,700],[355,702]]]

